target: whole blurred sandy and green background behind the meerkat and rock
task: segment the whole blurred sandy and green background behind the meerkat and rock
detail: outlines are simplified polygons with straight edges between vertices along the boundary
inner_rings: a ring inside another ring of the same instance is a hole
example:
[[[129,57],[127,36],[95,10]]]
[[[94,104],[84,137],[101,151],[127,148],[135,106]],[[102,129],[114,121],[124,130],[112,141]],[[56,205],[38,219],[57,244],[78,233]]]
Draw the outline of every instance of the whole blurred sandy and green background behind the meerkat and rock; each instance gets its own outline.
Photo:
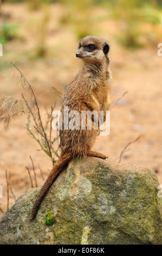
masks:
[[[112,103],[127,93],[112,108],[109,136],[99,136],[94,150],[118,163],[126,145],[141,136],[124,151],[121,163],[151,168],[162,184],[162,56],[157,54],[162,42],[162,2],[2,0],[0,22],[0,94],[22,98],[14,62],[32,85],[42,118],[54,103],[55,109],[61,107],[53,87],[63,94],[79,71],[82,63],[75,57],[79,40],[86,35],[106,39],[112,57]],[[35,186],[35,175],[41,186],[42,174],[47,178],[52,167],[49,156],[29,137],[27,118],[27,114],[17,115],[7,131],[0,124],[0,215],[8,202],[11,206],[31,188],[31,180]]]

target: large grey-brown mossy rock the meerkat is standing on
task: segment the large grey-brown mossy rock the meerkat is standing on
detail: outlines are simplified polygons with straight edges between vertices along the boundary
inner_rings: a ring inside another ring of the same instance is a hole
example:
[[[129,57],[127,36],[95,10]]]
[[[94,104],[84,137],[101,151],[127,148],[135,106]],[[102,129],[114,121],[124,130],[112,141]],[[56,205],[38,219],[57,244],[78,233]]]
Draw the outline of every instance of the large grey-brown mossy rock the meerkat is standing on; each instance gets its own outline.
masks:
[[[69,163],[30,223],[40,188],[0,218],[1,244],[161,244],[161,199],[152,170],[87,158]],[[53,225],[46,225],[51,209]]]

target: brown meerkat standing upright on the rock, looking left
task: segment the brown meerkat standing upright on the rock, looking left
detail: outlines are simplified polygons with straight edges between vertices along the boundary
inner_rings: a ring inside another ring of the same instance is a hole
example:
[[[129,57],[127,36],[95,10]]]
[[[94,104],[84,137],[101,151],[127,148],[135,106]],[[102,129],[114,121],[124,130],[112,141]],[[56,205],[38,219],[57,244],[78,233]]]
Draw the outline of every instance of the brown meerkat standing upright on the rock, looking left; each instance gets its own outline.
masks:
[[[68,111],[79,112],[81,119],[82,111],[96,111],[97,113],[103,111],[103,121],[105,121],[105,112],[108,111],[111,104],[112,80],[108,42],[98,36],[86,36],[79,42],[76,57],[82,59],[83,65],[67,88],[61,113],[64,114],[64,107],[68,106]],[[36,198],[30,221],[35,218],[38,206],[55,178],[70,160],[86,156],[107,158],[107,156],[91,150],[99,127],[98,129],[92,127],[92,130],[88,130],[86,125],[85,130],[64,129],[69,119],[63,120],[63,127],[60,130],[61,154]],[[93,120],[90,121],[93,123]]]

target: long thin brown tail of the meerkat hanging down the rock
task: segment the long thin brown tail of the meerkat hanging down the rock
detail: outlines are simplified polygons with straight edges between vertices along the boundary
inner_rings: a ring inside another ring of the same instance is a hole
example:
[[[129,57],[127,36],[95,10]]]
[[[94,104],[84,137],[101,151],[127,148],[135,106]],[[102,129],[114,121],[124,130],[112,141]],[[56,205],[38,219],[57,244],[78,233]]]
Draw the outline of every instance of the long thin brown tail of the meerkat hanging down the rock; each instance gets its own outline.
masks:
[[[37,199],[36,199],[36,201],[34,203],[33,210],[32,210],[32,213],[31,213],[30,221],[34,220],[34,218],[35,218],[35,216],[37,214],[38,207],[39,207],[43,197],[45,196],[45,194],[49,190],[50,186],[53,184],[55,178],[63,170],[63,168],[66,166],[66,164],[71,159],[72,159],[72,156],[70,156],[68,154],[61,153],[59,159],[57,160],[57,162],[55,163],[53,169],[49,173],[47,180],[44,182],[44,185],[42,186],[41,191],[40,191],[40,193],[37,196]]]

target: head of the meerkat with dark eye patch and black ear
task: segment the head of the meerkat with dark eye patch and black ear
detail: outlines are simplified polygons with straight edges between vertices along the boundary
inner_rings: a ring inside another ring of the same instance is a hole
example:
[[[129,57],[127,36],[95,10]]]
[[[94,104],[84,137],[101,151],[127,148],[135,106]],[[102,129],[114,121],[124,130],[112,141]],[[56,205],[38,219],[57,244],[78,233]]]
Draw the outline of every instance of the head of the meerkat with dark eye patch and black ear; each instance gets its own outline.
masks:
[[[76,57],[87,64],[101,64],[103,60],[110,62],[108,42],[98,36],[86,36],[79,42]]]

